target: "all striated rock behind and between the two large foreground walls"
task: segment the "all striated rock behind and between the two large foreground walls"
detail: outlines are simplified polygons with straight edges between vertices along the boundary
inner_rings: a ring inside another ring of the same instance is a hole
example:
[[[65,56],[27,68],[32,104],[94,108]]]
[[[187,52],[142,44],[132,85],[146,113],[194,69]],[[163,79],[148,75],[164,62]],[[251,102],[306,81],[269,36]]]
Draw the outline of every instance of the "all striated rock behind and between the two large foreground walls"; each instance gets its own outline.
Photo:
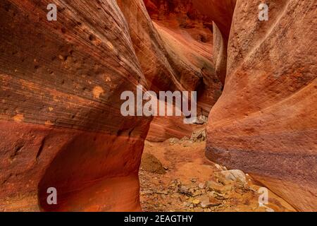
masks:
[[[149,90],[197,90],[197,114],[207,116],[222,89],[212,61],[212,20],[191,1],[119,0],[118,5]],[[148,138],[164,141],[191,133],[181,118],[155,117]]]

